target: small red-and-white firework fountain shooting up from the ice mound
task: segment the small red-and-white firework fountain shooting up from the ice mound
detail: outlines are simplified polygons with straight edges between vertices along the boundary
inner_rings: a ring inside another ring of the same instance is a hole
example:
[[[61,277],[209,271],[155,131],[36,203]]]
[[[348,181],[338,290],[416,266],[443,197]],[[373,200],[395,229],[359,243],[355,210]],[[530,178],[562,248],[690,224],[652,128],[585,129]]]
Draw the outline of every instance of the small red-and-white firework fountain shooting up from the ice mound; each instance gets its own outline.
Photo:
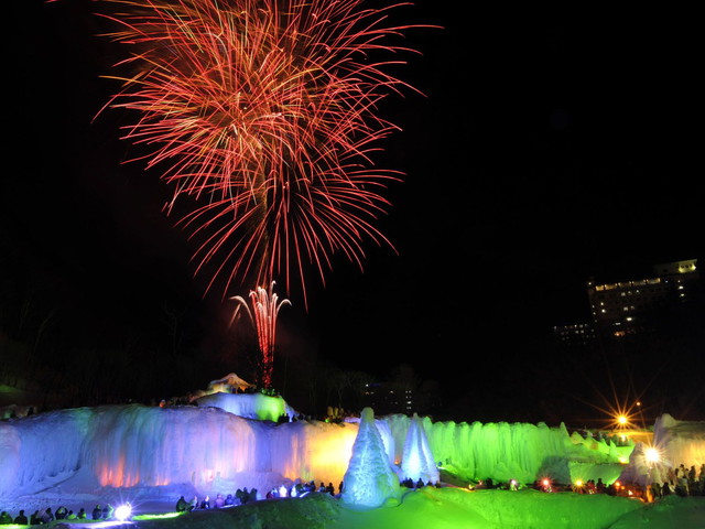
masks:
[[[284,305],[291,305],[289,300],[279,301],[279,296],[274,293],[274,282],[270,283],[269,291],[262,287],[250,291],[250,302],[252,310],[241,295],[232,296],[231,300],[238,302],[235,310],[234,320],[237,319],[239,310],[245,311],[250,316],[250,321],[257,331],[257,339],[262,354],[261,381],[264,388],[272,387],[272,371],[274,367],[274,343],[276,337],[276,316]]]

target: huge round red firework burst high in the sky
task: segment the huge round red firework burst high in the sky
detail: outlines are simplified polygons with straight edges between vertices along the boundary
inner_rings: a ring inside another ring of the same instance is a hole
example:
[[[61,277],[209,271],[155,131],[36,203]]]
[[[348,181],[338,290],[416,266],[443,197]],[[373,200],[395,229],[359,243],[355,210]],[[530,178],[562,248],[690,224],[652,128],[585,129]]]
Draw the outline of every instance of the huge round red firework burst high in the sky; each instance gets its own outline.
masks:
[[[165,165],[169,210],[199,201],[180,222],[205,240],[197,270],[216,264],[208,289],[221,274],[225,291],[281,274],[305,296],[304,267],[324,280],[333,253],[361,267],[365,239],[389,244],[373,224],[400,175],[373,169],[370,153],[395,127],[376,105],[408,85],[386,73],[394,62],[371,57],[408,50],[386,44],[409,28],[387,25],[399,4],[105,1],[126,8],[110,36],[134,50],[110,105],[140,114],[124,138],[150,148],[149,168]]]

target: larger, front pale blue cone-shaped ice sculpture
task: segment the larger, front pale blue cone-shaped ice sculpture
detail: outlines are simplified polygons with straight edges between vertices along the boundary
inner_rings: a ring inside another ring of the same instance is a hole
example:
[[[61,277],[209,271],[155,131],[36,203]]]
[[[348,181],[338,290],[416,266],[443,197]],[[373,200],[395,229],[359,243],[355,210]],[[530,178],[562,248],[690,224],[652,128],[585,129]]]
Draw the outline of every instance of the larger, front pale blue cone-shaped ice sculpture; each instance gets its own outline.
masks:
[[[343,500],[360,507],[379,507],[399,494],[399,478],[389,465],[384,443],[375,425],[375,413],[365,408],[343,479]]]

